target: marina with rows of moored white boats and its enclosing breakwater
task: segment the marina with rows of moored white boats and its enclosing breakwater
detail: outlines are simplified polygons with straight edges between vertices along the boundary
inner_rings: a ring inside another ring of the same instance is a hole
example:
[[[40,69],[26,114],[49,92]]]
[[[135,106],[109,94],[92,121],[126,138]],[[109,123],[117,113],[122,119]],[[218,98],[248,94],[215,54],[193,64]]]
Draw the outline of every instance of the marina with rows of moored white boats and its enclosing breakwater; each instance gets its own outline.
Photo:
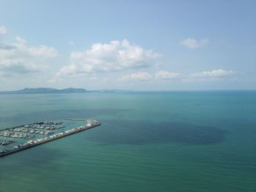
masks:
[[[68,120],[75,120],[75,119],[69,118]],[[71,134],[75,134],[80,131],[85,131],[89,128],[94,128],[100,125],[100,123],[97,120],[85,120],[85,119],[79,119],[79,120],[83,121],[85,125],[78,126],[76,128],[72,128],[69,130],[64,130],[64,127],[65,127],[64,123],[59,121],[45,121],[45,122],[31,123],[28,125],[18,126],[15,128],[5,128],[4,131],[0,131],[1,137],[31,139],[31,140],[19,145],[15,145],[11,148],[4,148],[3,150],[0,150],[0,158],[6,155],[10,155],[12,153],[17,153],[21,150],[26,150],[31,147],[35,147],[37,145],[42,145],[43,143],[50,142],[55,139],[67,137]],[[54,131],[50,131],[50,130],[56,130],[60,128],[61,128],[61,131],[57,134],[54,134],[55,133]],[[30,134],[23,134],[23,132],[30,133]],[[39,138],[39,139],[37,138],[32,139],[35,137],[34,134],[45,135],[45,137]],[[16,141],[13,139],[0,139],[0,145],[10,145],[15,142]]]

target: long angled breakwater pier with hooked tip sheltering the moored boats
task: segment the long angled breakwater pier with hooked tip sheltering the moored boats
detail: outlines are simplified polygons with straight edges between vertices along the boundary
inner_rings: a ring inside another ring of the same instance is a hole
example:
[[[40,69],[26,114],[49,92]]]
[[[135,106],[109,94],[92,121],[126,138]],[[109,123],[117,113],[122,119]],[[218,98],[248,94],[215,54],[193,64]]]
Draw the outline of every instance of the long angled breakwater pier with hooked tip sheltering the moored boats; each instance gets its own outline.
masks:
[[[75,120],[75,119],[70,118],[69,120]],[[50,137],[45,137],[45,138],[37,139],[37,140],[30,140],[29,142],[26,142],[23,145],[15,146],[12,150],[0,151],[0,158],[4,157],[6,155],[10,155],[12,153],[17,153],[21,150],[26,150],[26,149],[29,149],[31,147],[35,147],[37,145],[42,145],[46,142],[51,142],[51,141],[56,140],[56,139],[61,139],[63,137],[67,137],[71,134],[76,134],[80,131],[86,131],[90,128],[94,128],[94,127],[100,125],[100,123],[97,120],[83,120],[83,121],[85,121],[87,123],[84,126],[79,126],[77,128],[72,128],[72,129],[67,130],[67,131],[62,131],[59,134],[53,134]],[[20,127],[20,126],[18,126],[18,127]],[[8,130],[8,129],[9,128],[5,128],[4,130]]]

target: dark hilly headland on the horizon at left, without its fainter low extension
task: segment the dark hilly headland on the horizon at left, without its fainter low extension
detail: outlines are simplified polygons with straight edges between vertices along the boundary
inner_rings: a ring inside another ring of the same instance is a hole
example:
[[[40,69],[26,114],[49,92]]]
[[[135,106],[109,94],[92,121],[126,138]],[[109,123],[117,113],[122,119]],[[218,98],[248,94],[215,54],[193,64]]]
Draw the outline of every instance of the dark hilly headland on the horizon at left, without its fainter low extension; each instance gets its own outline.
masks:
[[[88,93],[86,89],[83,88],[23,88],[18,91],[0,91],[0,94],[40,94],[40,93]]]

